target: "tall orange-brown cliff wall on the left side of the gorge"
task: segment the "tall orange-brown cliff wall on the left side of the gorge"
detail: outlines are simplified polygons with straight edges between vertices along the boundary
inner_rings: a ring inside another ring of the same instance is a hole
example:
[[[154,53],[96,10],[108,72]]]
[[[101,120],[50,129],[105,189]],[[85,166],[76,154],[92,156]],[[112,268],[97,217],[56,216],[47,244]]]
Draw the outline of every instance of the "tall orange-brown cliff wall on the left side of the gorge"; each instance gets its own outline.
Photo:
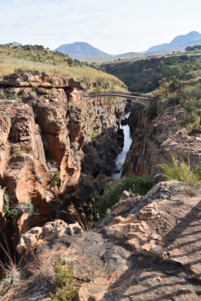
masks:
[[[121,151],[116,114],[126,100],[86,101],[78,89],[80,82],[48,73],[0,77],[0,226],[13,225],[15,242],[71,202],[97,197],[95,178],[111,173]]]

